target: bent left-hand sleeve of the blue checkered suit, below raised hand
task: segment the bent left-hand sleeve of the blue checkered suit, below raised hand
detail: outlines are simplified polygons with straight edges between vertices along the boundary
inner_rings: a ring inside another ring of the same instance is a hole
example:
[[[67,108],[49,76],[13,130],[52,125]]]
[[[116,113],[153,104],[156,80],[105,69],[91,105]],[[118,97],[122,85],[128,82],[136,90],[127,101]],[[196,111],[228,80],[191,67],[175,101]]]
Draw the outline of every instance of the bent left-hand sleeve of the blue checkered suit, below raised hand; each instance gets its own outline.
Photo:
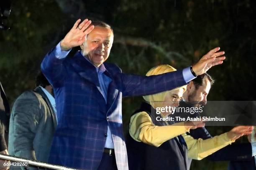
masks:
[[[41,63],[41,71],[53,87],[60,87],[67,75],[64,66],[65,58],[59,59],[55,56],[56,47],[46,54]]]

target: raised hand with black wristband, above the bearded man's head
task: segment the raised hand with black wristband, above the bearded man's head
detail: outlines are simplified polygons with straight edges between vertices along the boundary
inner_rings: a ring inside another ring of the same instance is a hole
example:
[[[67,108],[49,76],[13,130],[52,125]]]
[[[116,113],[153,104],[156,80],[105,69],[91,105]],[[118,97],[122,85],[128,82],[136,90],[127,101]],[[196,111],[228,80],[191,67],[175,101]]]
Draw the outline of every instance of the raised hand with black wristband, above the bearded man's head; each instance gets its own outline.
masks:
[[[225,60],[224,51],[218,52],[220,47],[210,50],[206,55],[204,55],[195,65],[192,66],[193,71],[196,75],[201,75],[212,66],[219,65]]]

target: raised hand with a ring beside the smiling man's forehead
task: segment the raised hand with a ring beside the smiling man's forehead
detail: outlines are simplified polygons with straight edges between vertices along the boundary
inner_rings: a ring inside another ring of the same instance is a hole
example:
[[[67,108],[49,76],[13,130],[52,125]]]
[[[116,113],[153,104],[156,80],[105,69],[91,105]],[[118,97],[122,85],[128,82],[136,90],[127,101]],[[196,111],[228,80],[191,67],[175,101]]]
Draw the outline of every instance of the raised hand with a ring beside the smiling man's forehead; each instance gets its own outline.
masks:
[[[77,22],[74,23],[73,28],[67,33],[64,39],[61,40],[61,50],[68,51],[72,47],[77,47],[86,41],[87,34],[93,30],[94,26],[91,25],[89,27],[89,25],[92,23],[91,20],[85,19],[82,23],[80,23],[80,21],[80,19],[77,20]]]

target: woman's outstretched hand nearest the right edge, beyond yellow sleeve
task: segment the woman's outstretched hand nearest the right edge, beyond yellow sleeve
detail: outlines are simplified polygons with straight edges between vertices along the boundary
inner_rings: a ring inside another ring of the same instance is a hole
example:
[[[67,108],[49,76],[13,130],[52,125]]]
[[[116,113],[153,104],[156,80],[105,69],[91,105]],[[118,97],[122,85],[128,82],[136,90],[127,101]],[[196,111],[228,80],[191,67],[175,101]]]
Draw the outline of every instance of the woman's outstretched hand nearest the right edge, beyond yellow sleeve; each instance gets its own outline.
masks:
[[[230,140],[236,140],[243,135],[249,135],[253,131],[253,126],[236,126],[228,132]]]

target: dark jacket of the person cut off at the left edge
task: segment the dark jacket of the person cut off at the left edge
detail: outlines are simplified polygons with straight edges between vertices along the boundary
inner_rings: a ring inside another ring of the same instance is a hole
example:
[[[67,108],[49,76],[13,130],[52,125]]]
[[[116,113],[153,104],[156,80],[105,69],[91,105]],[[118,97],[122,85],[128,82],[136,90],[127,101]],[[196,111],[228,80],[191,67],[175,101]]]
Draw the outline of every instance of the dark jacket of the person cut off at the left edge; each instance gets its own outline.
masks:
[[[7,149],[10,120],[10,106],[0,82],[0,151]]]

